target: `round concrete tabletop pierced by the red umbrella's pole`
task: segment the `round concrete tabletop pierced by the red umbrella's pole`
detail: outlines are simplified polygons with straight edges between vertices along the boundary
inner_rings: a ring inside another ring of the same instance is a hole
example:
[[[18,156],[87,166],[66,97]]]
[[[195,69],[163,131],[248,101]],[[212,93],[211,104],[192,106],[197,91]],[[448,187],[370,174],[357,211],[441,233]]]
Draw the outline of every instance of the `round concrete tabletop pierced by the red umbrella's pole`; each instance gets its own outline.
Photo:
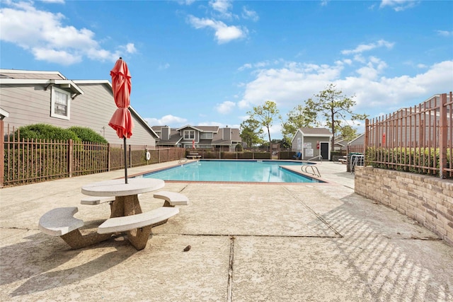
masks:
[[[127,196],[159,190],[164,187],[164,180],[156,178],[128,178],[93,182],[82,187],[82,193],[90,196]]]

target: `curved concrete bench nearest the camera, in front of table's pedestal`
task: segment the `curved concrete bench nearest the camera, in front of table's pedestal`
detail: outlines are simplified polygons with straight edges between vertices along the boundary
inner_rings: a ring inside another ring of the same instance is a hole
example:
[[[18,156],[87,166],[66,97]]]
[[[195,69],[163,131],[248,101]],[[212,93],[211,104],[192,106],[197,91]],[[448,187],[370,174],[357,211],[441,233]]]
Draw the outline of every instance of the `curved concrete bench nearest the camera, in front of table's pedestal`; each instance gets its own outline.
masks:
[[[151,228],[154,224],[167,221],[179,213],[178,208],[161,207],[141,214],[120,216],[107,219],[98,227],[98,233],[114,233],[127,231],[127,239],[137,250],[147,246]]]

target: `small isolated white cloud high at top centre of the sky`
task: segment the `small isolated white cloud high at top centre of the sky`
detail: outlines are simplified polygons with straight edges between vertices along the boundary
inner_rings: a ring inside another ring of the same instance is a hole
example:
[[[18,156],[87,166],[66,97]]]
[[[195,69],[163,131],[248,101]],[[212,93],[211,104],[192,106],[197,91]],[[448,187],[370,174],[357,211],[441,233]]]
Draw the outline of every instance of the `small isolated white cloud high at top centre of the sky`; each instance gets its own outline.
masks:
[[[243,37],[246,37],[246,35],[248,34],[248,30],[246,28],[239,28],[234,25],[226,25],[222,21],[189,16],[188,22],[197,29],[214,29],[215,37],[219,44],[230,42],[231,40],[241,39]]]

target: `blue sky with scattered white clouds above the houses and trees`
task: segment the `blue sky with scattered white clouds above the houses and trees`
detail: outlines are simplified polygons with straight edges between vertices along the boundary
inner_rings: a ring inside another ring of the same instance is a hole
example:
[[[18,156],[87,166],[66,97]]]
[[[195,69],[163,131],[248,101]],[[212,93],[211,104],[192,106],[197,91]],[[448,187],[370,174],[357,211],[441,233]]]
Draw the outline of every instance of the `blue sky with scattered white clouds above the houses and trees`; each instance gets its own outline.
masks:
[[[121,56],[151,126],[239,127],[265,100],[285,119],[329,83],[369,117],[453,90],[453,1],[0,4],[2,69],[110,80]]]

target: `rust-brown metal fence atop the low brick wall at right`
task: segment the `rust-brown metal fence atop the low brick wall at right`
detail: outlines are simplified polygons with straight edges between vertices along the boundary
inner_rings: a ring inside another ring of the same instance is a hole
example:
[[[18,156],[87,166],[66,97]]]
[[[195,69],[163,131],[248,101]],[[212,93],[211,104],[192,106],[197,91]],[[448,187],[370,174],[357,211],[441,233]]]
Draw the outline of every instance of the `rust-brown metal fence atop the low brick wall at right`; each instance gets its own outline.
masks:
[[[453,178],[452,92],[365,120],[365,164]]]

